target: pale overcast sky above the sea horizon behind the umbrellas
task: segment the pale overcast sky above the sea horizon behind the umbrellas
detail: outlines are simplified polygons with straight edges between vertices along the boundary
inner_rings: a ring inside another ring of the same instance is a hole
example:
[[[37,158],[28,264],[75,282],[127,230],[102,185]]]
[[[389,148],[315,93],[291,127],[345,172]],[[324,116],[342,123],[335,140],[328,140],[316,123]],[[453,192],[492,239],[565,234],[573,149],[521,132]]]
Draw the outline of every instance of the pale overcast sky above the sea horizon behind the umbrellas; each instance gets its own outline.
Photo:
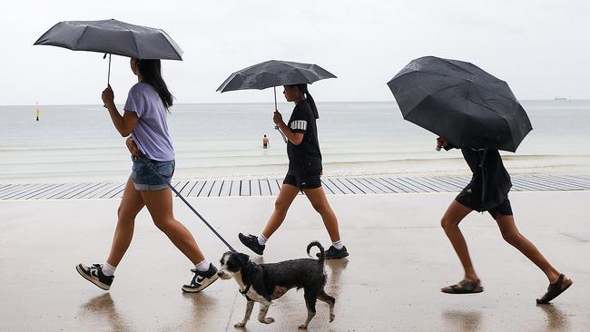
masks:
[[[176,103],[268,102],[271,90],[215,90],[270,59],[336,74],[310,87],[318,102],[392,101],[388,80],[424,55],[476,63],[519,99],[590,99],[589,13],[583,0],[7,1],[0,104],[101,103],[103,54],[33,43],[60,21],[108,18],[162,28],[181,46],[182,62],[163,63]],[[134,79],[113,56],[115,102]]]

